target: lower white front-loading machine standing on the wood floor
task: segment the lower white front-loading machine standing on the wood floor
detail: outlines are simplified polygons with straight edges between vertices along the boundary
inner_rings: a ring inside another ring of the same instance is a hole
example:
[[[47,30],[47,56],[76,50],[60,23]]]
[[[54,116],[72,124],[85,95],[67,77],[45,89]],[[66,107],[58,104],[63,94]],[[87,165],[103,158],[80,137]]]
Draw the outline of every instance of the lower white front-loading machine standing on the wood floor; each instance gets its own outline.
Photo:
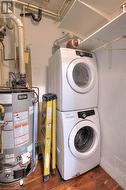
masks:
[[[57,111],[57,167],[64,180],[100,163],[100,125],[97,109]]]

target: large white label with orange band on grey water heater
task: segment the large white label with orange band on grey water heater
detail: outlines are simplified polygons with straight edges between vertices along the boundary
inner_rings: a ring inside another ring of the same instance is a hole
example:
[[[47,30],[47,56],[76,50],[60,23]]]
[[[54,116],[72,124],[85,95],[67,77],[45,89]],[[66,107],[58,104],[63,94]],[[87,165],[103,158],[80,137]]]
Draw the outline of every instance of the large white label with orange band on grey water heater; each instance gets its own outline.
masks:
[[[28,112],[14,113],[15,147],[20,147],[29,142]]]

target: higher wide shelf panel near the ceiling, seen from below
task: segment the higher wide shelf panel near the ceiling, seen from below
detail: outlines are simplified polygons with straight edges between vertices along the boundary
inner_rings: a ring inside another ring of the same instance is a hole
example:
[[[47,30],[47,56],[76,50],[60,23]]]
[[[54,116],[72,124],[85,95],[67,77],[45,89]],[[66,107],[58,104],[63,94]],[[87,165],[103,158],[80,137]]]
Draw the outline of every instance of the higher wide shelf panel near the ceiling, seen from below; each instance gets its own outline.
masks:
[[[62,19],[59,27],[84,39],[108,21],[109,18],[106,14],[80,0],[76,0]]]

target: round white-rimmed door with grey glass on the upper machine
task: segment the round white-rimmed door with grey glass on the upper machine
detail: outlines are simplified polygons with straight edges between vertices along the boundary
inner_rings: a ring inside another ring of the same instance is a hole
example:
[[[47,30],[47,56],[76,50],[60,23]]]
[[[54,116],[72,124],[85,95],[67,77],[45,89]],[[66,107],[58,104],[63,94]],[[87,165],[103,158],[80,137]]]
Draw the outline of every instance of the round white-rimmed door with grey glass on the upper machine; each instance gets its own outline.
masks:
[[[75,59],[67,68],[67,80],[71,88],[78,93],[87,93],[95,84],[95,67],[92,62]]]

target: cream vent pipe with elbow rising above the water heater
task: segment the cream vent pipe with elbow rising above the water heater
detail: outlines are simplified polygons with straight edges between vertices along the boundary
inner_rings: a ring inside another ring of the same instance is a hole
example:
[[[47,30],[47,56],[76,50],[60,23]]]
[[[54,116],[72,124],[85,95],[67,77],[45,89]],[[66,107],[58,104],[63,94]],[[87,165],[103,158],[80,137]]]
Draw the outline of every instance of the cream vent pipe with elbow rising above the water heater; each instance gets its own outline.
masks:
[[[17,26],[18,32],[18,47],[19,47],[19,70],[20,74],[25,75],[25,64],[24,64],[24,26],[19,18],[14,14],[10,14],[10,19]]]

